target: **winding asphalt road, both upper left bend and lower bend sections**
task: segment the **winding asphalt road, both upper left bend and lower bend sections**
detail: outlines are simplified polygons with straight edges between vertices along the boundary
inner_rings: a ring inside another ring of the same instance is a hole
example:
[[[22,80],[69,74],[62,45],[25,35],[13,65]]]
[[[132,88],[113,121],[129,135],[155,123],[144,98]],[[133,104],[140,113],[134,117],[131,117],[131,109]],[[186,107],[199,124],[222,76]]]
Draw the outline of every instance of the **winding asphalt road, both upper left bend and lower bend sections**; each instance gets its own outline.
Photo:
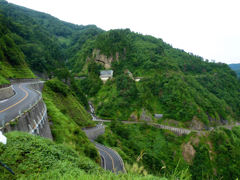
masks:
[[[0,127],[14,120],[18,115],[28,110],[39,98],[41,98],[41,93],[32,89],[30,84],[33,84],[33,82],[14,83],[12,87],[15,94],[9,99],[0,101]],[[105,127],[98,125],[86,131],[94,133],[94,131],[101,128]],[[115,173],[125,172],[123,161],[117,152],[94,141],[93,143],[100,153],[102,167],[104,169]]]

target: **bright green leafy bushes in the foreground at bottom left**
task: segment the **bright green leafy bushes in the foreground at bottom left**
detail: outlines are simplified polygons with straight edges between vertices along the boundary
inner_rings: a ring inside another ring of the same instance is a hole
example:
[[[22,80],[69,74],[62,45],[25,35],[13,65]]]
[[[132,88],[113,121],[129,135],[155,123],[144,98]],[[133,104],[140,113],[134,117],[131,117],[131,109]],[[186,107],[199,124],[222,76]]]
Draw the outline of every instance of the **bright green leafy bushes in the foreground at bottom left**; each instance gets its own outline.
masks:
[[[11,167],[16,175],[0,166],[1,179],[161,179],[106,172],[83,154],[39,136],[22,132],[11,132],[6,136],[7,145],[0,143],[0,160]]]

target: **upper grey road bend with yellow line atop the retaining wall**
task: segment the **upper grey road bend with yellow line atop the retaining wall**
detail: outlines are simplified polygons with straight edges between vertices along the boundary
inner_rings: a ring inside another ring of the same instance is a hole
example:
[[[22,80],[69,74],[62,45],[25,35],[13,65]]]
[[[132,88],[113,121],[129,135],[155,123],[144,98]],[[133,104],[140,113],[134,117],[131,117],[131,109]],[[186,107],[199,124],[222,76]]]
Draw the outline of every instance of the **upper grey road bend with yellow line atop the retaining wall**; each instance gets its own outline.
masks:
[[[41,96],[30,87],[31,83],[13,84],[15,95],[0,101],[0,126],[15,119],[20,113],[29,109]]]

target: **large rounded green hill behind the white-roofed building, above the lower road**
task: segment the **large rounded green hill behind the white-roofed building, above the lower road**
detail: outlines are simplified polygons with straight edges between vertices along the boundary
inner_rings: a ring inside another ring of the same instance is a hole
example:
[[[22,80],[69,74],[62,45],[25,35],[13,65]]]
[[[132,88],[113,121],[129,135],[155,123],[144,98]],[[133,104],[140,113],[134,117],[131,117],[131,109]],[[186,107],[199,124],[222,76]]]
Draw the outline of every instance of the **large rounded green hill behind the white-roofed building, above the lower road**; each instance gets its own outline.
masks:
[[[82,84],[94,79],[87,68],[90,62],[102,65],[96,72],[103,66],[114,70],[114,78],[97,87],[97,93],[85,91],[103,118],[139,119],[148,111],[185,125],[192,120],[206,125],[239,120],[240,84],[226,64],[204,61],[128,29],[102,33],[84,44],[72,66],[73,72],[88,73]],[[129,71],[142,80],[134,82]]]

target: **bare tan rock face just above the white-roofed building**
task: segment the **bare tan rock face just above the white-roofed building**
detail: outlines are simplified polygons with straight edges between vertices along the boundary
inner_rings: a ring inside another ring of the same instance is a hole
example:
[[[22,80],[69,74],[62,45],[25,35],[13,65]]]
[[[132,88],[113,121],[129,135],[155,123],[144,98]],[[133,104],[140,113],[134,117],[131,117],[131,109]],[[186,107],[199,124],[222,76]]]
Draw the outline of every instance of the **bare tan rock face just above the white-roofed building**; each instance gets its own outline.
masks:
[[[112,62],[114,60],[118,61],[118,59],[119,59],[119,53],[118,52],[116,52],[115,57],[113,57],[113,56],[107,57],[106,55],[101,54],[99,49],[94,49],[92,55],[93,55],[94,60],[97,63],[102,64],[106,69],[111,68]]]

